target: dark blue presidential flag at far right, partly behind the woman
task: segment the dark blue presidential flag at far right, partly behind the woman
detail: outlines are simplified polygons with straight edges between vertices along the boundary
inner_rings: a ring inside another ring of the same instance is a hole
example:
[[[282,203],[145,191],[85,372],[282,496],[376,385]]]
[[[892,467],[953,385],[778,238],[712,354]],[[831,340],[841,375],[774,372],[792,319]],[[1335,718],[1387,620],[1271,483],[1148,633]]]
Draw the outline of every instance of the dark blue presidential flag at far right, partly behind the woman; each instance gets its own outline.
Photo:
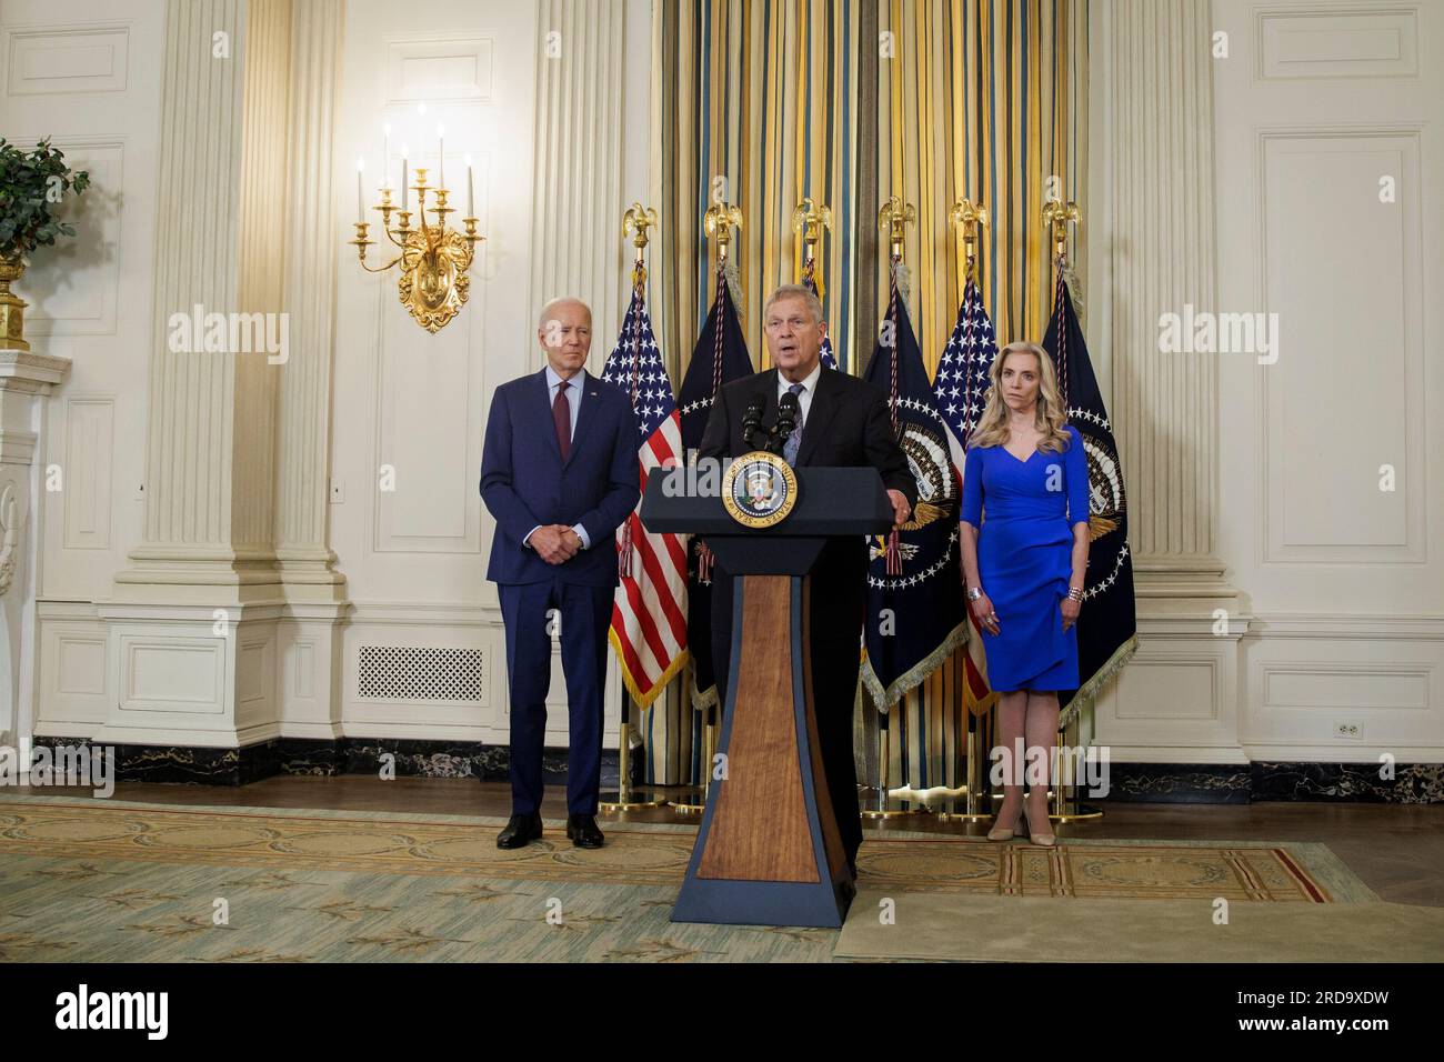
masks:
[[[1079,613],[1079,682],[1071,694],[1060,692],[1060,725],[1069,722],[1097,689],[1134,655],[1138,623],[1134,611],[1134,561],[1128,552],[1128,500],[1123,465],[1113,442],[1113,425],[1093,376],[1083,329],[1063,282],[1054,289],[1053,319],[1043,348],[1053,355],[1058,392],[1069,423],[1083,436],[1087,454],[1089,553]]]

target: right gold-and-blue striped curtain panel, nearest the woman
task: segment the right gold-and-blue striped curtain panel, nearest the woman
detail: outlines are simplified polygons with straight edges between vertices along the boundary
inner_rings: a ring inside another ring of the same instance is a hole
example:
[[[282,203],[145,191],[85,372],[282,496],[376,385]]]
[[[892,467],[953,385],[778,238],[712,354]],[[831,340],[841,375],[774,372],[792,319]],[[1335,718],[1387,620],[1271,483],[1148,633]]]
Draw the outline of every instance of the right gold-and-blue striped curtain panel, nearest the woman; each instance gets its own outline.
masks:
[[[1087,215],[1087,3],[879,7],[878,198],[917,207],[904,259],[928,371],[962,302],[963,251],[947,220],[960,197],[991,215],[979,273],[999,347],[1041,342],[1053,305],[1043,204],[1073,199]],[[1071,259],[1083,262],[1077,240]],[[877,283],[885,299],[885,270]]]

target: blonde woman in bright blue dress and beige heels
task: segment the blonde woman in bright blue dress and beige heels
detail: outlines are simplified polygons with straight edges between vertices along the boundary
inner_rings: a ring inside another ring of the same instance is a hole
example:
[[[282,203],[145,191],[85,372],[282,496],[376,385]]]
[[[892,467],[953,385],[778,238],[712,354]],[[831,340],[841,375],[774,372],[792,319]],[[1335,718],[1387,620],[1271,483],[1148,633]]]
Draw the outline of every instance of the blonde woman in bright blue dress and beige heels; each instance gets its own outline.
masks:
[[[1066,423],[1053,358],[1041,347],[1009,344],[993,358],[991,377],[967,441],[960,529],[969,608],[983,631],[988,685],[1001,695],[1004,799],[988,839],[1018,832],[1027,779],[1028,837],[1051,845],[1057,691],[1079,686],[1074,623],[1087,571],[1087,457],[1083,436]]]

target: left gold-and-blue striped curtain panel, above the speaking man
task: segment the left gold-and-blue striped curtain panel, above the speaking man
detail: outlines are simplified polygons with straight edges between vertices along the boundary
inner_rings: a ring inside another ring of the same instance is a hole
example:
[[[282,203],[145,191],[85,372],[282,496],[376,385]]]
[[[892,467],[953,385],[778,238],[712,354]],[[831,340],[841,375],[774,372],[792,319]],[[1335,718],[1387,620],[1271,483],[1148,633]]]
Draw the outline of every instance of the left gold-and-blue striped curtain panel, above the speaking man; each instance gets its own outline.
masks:
[[[658,345],[680,368],[713,292],[716,247],[702,215],[716,199],[742,210],[732,260],[742,283],[742,331],[758,368],[770,364],[762,301],[794,283],[803,241],[793,210],[826,204],[833,230],[819,279],[840,363],[853,347],[858,283],[858,4],[830,0],[667,0],[653,6],[651,298]],[[865,332],[872,334],[872,325]]]

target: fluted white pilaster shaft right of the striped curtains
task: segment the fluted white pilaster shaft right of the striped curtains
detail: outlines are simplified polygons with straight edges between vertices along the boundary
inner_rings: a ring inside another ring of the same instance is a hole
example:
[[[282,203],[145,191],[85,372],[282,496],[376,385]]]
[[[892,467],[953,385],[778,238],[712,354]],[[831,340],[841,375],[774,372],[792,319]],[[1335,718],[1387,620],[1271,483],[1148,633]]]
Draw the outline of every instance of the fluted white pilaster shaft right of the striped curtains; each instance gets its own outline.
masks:
[[[1138,592],[1229,594],[1216,555],[1217,355],[1160,351],[1160,315],[1217,301],[1209,1],[1115,0],[1093,13],[1100,179],[1084,223]]]

